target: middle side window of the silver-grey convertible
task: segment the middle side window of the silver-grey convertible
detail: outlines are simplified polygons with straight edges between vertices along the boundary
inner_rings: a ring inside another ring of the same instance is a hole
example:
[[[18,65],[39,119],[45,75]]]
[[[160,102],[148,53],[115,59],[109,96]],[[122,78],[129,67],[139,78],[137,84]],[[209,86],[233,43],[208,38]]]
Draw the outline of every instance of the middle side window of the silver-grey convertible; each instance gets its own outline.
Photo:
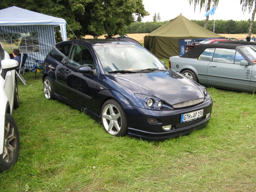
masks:
[[[234,63],[236,50],[216,48],[212,61],[218,63]]]

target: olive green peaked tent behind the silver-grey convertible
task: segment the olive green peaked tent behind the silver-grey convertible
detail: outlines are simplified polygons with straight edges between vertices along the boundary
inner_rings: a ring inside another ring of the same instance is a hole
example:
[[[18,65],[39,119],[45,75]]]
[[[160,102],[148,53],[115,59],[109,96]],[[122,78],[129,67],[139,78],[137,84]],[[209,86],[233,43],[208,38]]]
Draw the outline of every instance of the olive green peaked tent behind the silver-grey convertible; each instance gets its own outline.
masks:
[[[184,45],[197,39],[223,38],[181,14],[144,37],[144,47],[159,58],[184,53]],[[183,44],[183,46],[181,46]]]

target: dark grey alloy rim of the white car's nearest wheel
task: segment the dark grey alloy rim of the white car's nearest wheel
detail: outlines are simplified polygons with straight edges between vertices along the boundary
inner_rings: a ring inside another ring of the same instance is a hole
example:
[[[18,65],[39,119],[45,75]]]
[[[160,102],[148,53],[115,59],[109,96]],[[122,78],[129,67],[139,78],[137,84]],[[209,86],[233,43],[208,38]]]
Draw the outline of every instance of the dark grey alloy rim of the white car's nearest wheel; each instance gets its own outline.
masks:
[[[7,163],[13,161],[17,147],[16,132],[14,126],[7,122],[4,129],[3,160]]]

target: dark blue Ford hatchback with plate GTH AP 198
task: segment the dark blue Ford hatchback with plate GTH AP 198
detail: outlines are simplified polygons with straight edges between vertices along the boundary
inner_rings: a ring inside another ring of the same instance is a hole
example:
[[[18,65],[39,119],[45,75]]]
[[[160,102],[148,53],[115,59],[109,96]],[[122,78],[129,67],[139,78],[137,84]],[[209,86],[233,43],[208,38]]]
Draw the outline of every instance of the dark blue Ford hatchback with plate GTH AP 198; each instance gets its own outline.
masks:
[[[205,127],[212,100],[200,84],[140,45],[116,39],[56,44],[44,61],[46,99],[83,110],[105,131],[162,140]]]

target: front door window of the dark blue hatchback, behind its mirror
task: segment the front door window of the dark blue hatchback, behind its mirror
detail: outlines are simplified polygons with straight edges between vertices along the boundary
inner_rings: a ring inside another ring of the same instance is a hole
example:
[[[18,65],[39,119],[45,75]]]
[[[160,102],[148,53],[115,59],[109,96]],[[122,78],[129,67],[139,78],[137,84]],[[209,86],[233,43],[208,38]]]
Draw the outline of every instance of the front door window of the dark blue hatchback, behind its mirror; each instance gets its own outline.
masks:
[[[74,45],[71,50],[68,65],[76,68],[81,66],[87,66],[93,69],[94,60],[89,49],[87,49],[83,45]]]

